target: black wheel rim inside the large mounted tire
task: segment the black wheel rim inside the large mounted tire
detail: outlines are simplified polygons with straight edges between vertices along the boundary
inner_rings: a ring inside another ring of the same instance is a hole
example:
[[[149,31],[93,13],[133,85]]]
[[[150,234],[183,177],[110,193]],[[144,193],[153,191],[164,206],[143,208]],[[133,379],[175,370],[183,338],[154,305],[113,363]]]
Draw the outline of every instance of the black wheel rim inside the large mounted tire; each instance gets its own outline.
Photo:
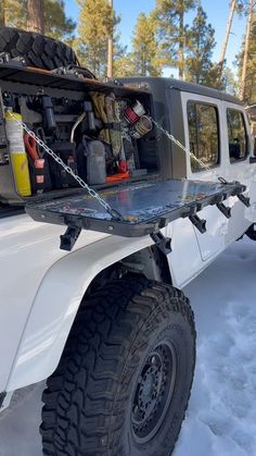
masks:
[[[171,342],[165,341],[146,357],[135,389],[131,427],[138,443],[149,442],[162,426],[174,394],[176,374],[176,349]]]

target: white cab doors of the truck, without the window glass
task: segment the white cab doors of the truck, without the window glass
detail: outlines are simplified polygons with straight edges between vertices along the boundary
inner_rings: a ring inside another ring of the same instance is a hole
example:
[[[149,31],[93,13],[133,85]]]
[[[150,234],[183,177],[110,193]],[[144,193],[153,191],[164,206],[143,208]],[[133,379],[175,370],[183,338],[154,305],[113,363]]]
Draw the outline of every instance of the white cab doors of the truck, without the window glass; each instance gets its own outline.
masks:
[[[195,180],[217,180],[222,176],[227,181],[239,181],[246,185],[246,193],[251,198],[252,206],[248,209],[236,198],[230,197],[226,201],[226,206],[232,208],[231,219],[227,219],[217,207],[207,207],[199,212],[200,218],[207,221],[207,232],[201,234],[196,229],[195,235],[199,242],[201,256],[203,261],[215,257],[216,254],[221,252],[231,242],[238,239],[252,224],[252,221],[256,220],[255,205],[256,200],[256,186],[255,186],[255,176],[256,168],[254,164],[249,164],[249,156],[245,160],[238,161],[235,163],[230,163],[229,157],[229,139],[228,139],[228,128],[227,128],[227,108],[233,108],[241,112],[244,112],[242,107],[233,104],[227,101],[221,101],[218,99],[212,99],[202,95],[194,94],[182,94],[182,108],[184,115],[184,135],[185,135],[185,146],[190,147],[189,141],[189,126],[187,121],[187,103],[188,101],[199,101],[202,103],[210,103],[215,106],[218,110],[219,116],[219,135],[220,135],[220,163],[208,171],[192,172],[190,157],[187,156],[187,177]],[[249,125],[247,116],[244,116],[246,123],[246,130],[248,134],[249,150],[252,150],[251,137],[249,137]]]

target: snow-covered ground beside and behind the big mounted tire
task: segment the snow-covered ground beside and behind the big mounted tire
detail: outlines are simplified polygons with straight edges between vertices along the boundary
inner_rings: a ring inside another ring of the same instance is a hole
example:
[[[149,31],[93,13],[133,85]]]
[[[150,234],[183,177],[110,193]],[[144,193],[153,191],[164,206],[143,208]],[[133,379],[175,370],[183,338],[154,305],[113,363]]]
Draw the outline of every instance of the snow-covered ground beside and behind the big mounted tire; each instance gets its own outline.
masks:
[[[256,244],[235,243],[184,292],[197,365],[175,456],[256,456]],[[1,456],[41,456],[42,387],[0,418]]]

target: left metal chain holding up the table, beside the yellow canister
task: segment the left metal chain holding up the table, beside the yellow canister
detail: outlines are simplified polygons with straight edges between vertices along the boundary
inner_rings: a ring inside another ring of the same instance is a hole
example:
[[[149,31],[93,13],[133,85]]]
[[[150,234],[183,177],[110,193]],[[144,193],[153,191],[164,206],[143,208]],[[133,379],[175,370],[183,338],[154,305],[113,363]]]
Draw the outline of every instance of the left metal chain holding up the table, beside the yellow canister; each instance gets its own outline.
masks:
[[[9,111],[9,114],[11,115],[11,118],[26,132],[28,133],[29,136],[31,136],[35,141],[38,144],[38,146],[40,146],[43,150],[46,150],[46,152],[51,156],[53,158],[53,160],[56,161],[56,163],[61,164],[61,167],[68,173],[71,174],[75,181],[80,185],[80,187],[82,187],[85,190],[87,190],[87,193],[94,199],[98,200],[98,202],[115,219],[118,220],[123,220],[123,215],[115,209],[113,209],[103,198],[101,198],[101,196],[99,195],[99,193],[97,193],[93,188],[91,188],[81,177],[79,177],[79,175],[77,175],[71,167],[67,167],[66,163],[64,163],[64,161],[55,153],[53,152],[52,149],[50,149],[50,147],[48,147],[31,130],[29,130],[27,127],[27,125],[22,122],[18,121],[12,113],[12,111]]]

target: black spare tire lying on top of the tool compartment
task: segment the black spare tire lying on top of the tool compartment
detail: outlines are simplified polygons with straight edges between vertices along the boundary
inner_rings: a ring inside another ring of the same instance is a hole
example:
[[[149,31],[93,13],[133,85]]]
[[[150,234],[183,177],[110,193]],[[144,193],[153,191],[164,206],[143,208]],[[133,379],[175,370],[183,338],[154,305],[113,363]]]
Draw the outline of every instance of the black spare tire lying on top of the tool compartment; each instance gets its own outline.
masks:
[[[0,53],[23,57],[26,65],[44,70],[77,65],[74,50],[62,41],[12,27],[0,27]]]

